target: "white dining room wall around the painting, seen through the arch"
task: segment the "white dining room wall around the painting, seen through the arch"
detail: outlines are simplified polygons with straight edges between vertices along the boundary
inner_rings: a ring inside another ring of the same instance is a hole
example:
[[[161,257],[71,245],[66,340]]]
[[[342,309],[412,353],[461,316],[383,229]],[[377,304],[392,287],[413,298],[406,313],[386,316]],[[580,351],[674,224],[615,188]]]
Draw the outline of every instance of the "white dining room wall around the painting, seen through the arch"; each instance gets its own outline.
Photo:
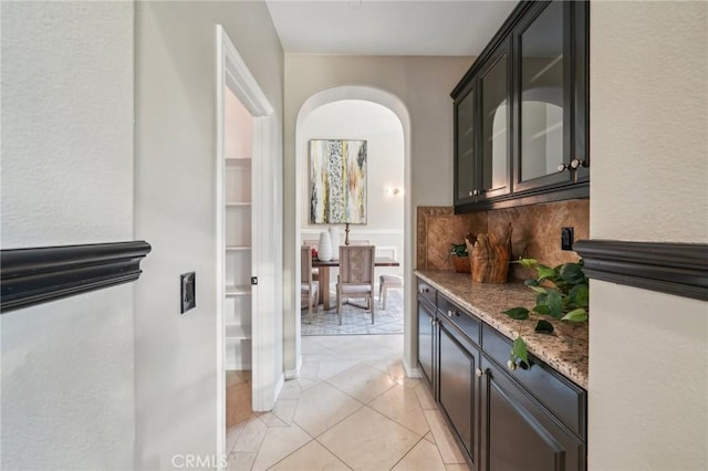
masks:
[[[329,226],[310,222],[310,139],[362,139],[367,143],[366,224],[350,227],[353,240],[368,240],[403,261],[403,193],[386,195],[385,189],[404,189],[404,137],[398,117],[388,108],[361,100],[344,100],[314,109],[302,124],[298,142],[298,185],[302,240],[317,240]],[[344,226],[337,224],[344,243]],[[400,268],[389,272],[400,272]],[[332,276],[336,280],[335,276]]]

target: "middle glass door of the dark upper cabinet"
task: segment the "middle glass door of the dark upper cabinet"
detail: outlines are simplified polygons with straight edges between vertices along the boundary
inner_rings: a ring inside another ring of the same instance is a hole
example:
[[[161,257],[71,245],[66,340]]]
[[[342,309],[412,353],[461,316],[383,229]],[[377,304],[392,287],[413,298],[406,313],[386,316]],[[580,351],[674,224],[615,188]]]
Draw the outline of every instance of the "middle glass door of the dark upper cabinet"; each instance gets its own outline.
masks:
[[[478,171],[481,177],[479,190],[485,198],[509,192],[509,55],[508,45],[502,46],[479,78],[481,143]]]

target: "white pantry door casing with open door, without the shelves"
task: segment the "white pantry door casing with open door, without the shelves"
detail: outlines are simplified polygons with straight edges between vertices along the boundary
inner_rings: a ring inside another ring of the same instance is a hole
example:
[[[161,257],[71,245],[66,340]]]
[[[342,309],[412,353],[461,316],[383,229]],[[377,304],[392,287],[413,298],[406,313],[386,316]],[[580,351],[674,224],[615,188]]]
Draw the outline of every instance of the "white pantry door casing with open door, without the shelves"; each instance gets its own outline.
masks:
[[[225,109],[223,103],[229,88],[252,116],[251,155],[251,275],[259,278],[251,292],[251,350],[252,350],[252,410],[271,410],[282,388],[284,376],[282,366],[277,367],[277,352],[273,347],[274,333],[279,332],[275,318],[273,291],[277,286],[277,273],[273,263],[272,247],[277,240],[273,231],[274,218],[271,214],[273,203],[272,174],[277,151],[278,123],[274,108],[261,91],[246,62],[236,50],[225,29],[216,25],[217,51],[217,135],[215,156],[215,200],[216,200],[216,244],[217,265],[217,452],[223,457],[226,451],[226,378],[225,378]],[[264,266],[270,266],[264,269]],[[258,315],[253,315],[258,313]],[[282,339],[281,339],[282,342]]]

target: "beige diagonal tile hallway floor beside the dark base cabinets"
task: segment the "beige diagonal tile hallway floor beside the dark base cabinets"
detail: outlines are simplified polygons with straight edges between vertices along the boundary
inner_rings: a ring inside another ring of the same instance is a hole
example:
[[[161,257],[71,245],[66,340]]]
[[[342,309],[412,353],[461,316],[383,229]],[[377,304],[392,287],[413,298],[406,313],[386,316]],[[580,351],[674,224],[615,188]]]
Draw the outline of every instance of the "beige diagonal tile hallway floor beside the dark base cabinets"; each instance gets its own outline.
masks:
[[[300,378],[227,431],[229,470],[468,470],[403,335],[302,338]]]

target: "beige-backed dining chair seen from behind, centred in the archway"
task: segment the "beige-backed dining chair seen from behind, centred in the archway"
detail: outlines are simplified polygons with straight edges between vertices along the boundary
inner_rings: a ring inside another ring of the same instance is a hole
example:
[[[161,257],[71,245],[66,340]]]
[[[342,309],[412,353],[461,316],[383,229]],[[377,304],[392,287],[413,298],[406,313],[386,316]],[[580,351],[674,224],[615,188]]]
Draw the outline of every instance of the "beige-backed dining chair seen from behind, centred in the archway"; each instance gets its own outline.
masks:
[[[340,315],[340,325],[344,297],[365,299],[372,313],[372,324],[374,323],[375,253],[374,245],[340,245],[340,278],[336,282],[336,312]]]

